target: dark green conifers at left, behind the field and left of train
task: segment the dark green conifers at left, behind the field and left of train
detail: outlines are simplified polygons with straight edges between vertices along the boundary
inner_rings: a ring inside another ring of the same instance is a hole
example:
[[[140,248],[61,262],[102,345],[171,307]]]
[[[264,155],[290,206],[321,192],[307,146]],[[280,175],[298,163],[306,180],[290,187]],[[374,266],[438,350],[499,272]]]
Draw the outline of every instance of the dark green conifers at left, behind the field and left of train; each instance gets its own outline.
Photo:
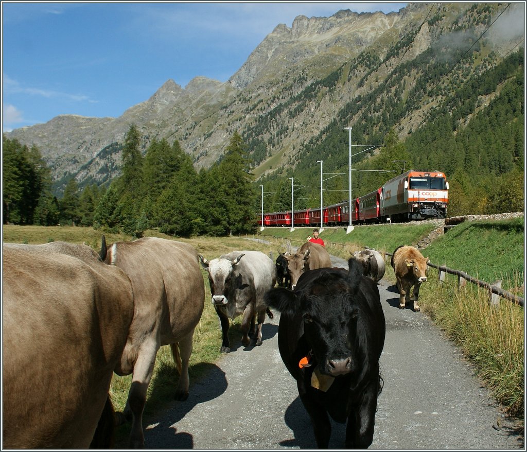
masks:
[[[176,140],[153,140],[143,156],[132,124],[122,149],[122,174],[110,185],[79,190],[74,178],[61,199],[51,194],[50,169],[40,151],[4,136],[3,222],[93,226],[135,237],[145,229],[177,235],[242,234],[257,227],[251,160],[235,132],[210,169],[196,171]]]

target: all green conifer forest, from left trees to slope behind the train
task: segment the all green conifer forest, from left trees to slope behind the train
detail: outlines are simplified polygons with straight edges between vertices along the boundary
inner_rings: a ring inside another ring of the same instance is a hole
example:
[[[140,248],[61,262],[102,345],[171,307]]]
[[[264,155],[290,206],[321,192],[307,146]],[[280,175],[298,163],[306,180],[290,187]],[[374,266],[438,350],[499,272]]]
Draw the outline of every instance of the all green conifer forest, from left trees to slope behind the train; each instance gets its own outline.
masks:
[[[378,64],[374,58],[368,61],[372,70]],[[352,70],[345,66],[299,95],[335,89],[345,71]],[[291,209],[291,177],[298,187],[295,209],[320,206],[317,159],[323,160],[326,174],[335,175],[324,185],[324,205],[348,198],[348,131],[343,129],[350,118],[354,142],[376,145],[353,159],[353,197],[373,191],[404,170],[428,169],[445,172],[450,182],[448,216],[523,211],[523,68],[521,49],[464,82],[461,71],[457,84],[444,86],[440,81],[452,68],[431,55],[419,55],[372,87],[368,99],[355,99],[340,110],[317,138],[299,147],[290,166],[258,179],[253,172],[261,161],[261,143],[254,126],[233,132],[222,158],[198,172],[177,140],[154,140],[143,155],[142,137],[132,124],[120,145],[119,177],[83,188],[71,178],[57,198],[40,151],[4,136],[3,223],[74,224],[135,236],[152,227],[181,237],[251,233],[261,209],[261,185],[265,211]],[[404,74],[415,70],[427,74],[426,83],[410,88]],[[429,105],[428,120],[402,139],[396,133],[402,119],[433,90],[438,92]],[[365,110],[364,104],[370,107]],[[266,128],[265,121],[271,120],[272,112],[257,126]]]

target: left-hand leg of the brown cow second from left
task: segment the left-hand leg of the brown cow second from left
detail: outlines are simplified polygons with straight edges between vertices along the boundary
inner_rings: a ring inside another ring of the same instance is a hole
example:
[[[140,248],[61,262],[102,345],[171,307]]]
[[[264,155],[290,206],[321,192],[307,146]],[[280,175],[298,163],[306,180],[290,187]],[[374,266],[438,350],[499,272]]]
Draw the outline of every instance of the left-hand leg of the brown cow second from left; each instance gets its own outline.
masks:
[[[126,400],[124,416],[129,419],[130,413],[132,415],[129,445],[134,449],[144,447],[143,410],[147,401],[148,385],[154,370],[155,355],[159,347],[159,341],[155,340],[143,344],[133,368],[132,384],[128,400]]]

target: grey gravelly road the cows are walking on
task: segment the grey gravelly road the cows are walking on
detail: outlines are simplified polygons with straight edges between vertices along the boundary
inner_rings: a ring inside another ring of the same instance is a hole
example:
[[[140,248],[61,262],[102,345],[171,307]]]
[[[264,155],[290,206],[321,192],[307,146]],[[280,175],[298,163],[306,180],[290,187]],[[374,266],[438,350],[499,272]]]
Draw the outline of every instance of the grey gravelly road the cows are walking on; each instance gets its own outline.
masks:
[[[347,268],[342,259],[334,265]],[[398,309],[395,287],[382,280],[386,341],[370,449],[521,449],[460,352],[421,312]],[[314,448],[295,380],[278,352],[279,315],[264,324],[261,347],[232,344],[206,378],[191,381],[187,401],[173,402],[146,432],[148,449]],[[218,347],[219,347],[218,343]],[[330,448],[343,447],[334,424]],[[125,448],[126,445],[123,445]]]

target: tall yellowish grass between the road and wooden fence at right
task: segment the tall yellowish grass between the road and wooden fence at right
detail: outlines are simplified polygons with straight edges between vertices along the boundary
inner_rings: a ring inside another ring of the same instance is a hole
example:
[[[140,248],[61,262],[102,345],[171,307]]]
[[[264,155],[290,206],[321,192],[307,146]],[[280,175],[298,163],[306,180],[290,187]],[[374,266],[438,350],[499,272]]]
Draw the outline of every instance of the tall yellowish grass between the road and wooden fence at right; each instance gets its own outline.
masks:
[[[430,277],[419,300],[421,309],[474,364],[477,375],[505,412],[512,417],[523,416],[523,307],[504,299],[493,305],[486,290],[470,284],[458,288],[453,276],[444,284]]]

